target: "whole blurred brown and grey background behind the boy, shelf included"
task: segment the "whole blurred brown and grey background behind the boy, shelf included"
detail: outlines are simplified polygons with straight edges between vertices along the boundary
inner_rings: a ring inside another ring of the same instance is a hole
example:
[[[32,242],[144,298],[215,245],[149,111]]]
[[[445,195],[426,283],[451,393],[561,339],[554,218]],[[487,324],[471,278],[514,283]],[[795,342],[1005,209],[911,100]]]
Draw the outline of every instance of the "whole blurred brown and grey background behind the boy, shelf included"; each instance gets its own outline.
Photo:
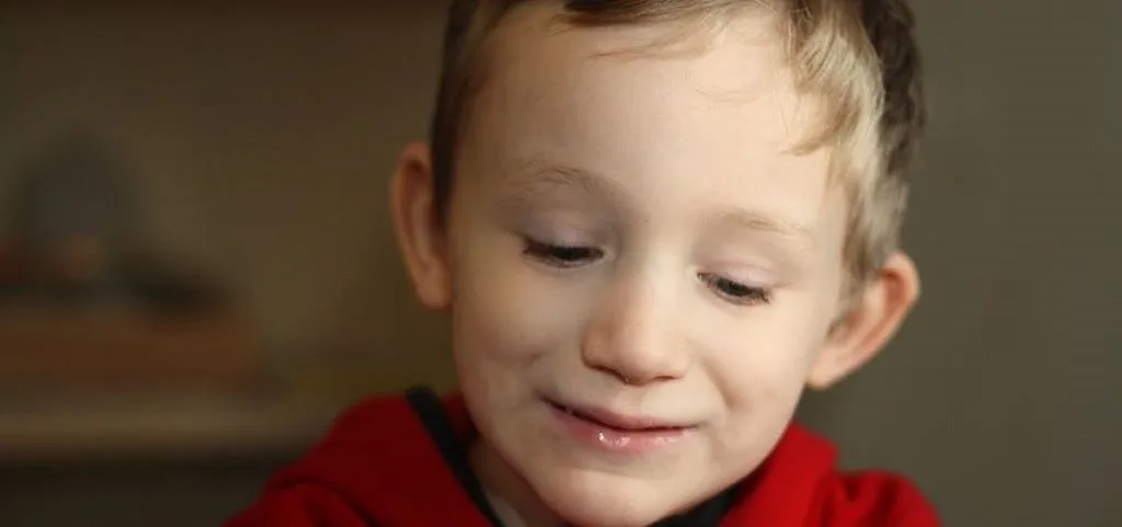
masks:
[[[948,526],[1120,526],[1122,3],[913,4],[923,299],[801,416]],[[444,6],[0,2],[0,525],[218,525],[452,386],[386,207]]]

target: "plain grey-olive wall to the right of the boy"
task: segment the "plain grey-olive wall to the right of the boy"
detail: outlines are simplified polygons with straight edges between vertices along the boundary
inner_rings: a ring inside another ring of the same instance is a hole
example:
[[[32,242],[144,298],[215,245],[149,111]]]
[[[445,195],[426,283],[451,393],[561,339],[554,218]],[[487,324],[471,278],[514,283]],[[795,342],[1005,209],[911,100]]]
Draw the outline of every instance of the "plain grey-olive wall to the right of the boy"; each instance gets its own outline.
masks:
[[[923,299],[815,418],[948,525],[1122,525],[1122,3],[917,8]]]

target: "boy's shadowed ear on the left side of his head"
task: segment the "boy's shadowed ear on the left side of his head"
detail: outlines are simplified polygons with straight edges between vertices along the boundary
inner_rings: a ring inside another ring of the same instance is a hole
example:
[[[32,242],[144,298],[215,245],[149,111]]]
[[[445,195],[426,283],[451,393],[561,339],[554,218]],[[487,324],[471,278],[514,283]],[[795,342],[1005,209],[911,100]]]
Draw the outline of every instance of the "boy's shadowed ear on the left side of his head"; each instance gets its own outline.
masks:
[[[429,147],[412,144],[397,160],[389,188],[397,243],[421,304],[447,309],[451,277],[443,228],[438,221]]]

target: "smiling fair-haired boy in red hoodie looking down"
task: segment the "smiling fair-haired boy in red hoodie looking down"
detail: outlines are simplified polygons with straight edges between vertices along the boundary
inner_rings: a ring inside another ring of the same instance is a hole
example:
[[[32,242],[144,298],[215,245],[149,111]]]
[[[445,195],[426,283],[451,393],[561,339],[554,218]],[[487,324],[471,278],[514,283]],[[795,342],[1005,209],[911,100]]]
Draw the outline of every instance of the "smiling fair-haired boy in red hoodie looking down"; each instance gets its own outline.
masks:
[[[392,187],[460,392],[360,405],[230,527],[928,527],[791,424],[918,294],[902,0],[458,1]]]

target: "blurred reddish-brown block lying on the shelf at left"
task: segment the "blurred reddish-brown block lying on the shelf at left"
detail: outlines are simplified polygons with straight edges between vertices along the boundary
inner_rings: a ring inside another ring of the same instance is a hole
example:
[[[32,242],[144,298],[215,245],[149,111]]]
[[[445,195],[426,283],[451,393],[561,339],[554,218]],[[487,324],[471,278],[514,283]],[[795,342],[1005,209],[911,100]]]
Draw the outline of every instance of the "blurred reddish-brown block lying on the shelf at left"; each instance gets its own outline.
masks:
[[[0,386],[208,382],[257,375],[256,332],[231,313],[0,306]]]

